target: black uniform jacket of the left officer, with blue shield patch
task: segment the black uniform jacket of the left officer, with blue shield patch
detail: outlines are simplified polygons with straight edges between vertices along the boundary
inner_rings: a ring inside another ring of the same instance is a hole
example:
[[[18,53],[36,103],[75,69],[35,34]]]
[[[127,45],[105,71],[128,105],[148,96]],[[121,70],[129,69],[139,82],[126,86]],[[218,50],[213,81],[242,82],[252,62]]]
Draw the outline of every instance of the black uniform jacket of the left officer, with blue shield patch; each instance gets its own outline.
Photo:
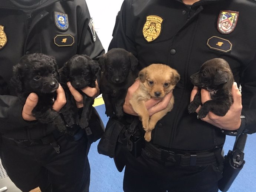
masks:
[[[43,0],[26,6],[21,2],[0,3],[0,76],[6,81],[24,54],[54,56],[61,67],[75,54],[95,59],[104,53],[84,0]],[[54,130],[25,122],[22,107],[16,97],[0,96],[0,133],[16,139],[37,139]]]

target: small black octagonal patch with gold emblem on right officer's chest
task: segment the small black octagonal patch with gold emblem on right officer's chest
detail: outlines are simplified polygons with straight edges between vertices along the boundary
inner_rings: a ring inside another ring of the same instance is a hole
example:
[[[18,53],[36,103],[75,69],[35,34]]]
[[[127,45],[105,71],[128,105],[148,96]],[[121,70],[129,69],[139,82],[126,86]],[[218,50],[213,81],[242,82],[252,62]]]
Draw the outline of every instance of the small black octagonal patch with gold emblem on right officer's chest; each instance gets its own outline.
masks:
[[[227,39],[222,39],[220,37],[210,37],[207,40],[207,46],[212,49],[219,52],[227,53],[232,50],[232,43],[230,43]]]

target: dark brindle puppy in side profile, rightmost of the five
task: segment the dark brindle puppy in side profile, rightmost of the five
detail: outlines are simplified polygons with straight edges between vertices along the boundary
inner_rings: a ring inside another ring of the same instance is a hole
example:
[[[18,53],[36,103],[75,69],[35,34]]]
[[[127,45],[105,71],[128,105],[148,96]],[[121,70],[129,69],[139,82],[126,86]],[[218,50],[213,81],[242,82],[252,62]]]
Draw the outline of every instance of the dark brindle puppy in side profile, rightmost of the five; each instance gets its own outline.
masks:
[[[199,89],[194,100],[188,105],[188,112],[193,113],[202,105],[197,114],[199,119],[206,117],[209,111],[218,116],[226,115],[233,103],[231,89],[234,77],[229,63],[220,58],[208,60],[203,63],[199,72],[190,76],[190,79],[194,86],[208,90],[211,100],[202,105]]]

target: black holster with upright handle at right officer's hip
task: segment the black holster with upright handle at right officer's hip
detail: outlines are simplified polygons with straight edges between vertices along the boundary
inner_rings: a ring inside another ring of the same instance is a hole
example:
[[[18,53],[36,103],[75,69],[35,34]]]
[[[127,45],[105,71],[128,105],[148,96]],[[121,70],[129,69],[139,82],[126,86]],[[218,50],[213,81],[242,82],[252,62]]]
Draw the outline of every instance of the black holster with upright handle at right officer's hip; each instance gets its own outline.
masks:
[[[218,182],[220,191],[226,192],[236,179],[236,176],[243,168],[244,161],[244,146],[246,143],[247,134],[242,133],[237,136],[233,150],[229,150],[224,157],[224,169],[222,172],[223,178]]]

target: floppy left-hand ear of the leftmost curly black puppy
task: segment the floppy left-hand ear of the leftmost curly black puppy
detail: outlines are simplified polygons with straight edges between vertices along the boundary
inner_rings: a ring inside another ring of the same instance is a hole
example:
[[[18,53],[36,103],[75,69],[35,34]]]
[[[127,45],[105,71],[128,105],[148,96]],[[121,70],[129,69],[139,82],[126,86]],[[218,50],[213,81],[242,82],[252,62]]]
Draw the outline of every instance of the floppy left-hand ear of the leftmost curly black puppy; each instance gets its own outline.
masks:
[[[23,76],[22,74],[22,66],[20,64],[16,64],[13,66],[13,76],[11,79],[11,85],[15,87],[17,92],[22,92],[23,86],[20,78]]]

